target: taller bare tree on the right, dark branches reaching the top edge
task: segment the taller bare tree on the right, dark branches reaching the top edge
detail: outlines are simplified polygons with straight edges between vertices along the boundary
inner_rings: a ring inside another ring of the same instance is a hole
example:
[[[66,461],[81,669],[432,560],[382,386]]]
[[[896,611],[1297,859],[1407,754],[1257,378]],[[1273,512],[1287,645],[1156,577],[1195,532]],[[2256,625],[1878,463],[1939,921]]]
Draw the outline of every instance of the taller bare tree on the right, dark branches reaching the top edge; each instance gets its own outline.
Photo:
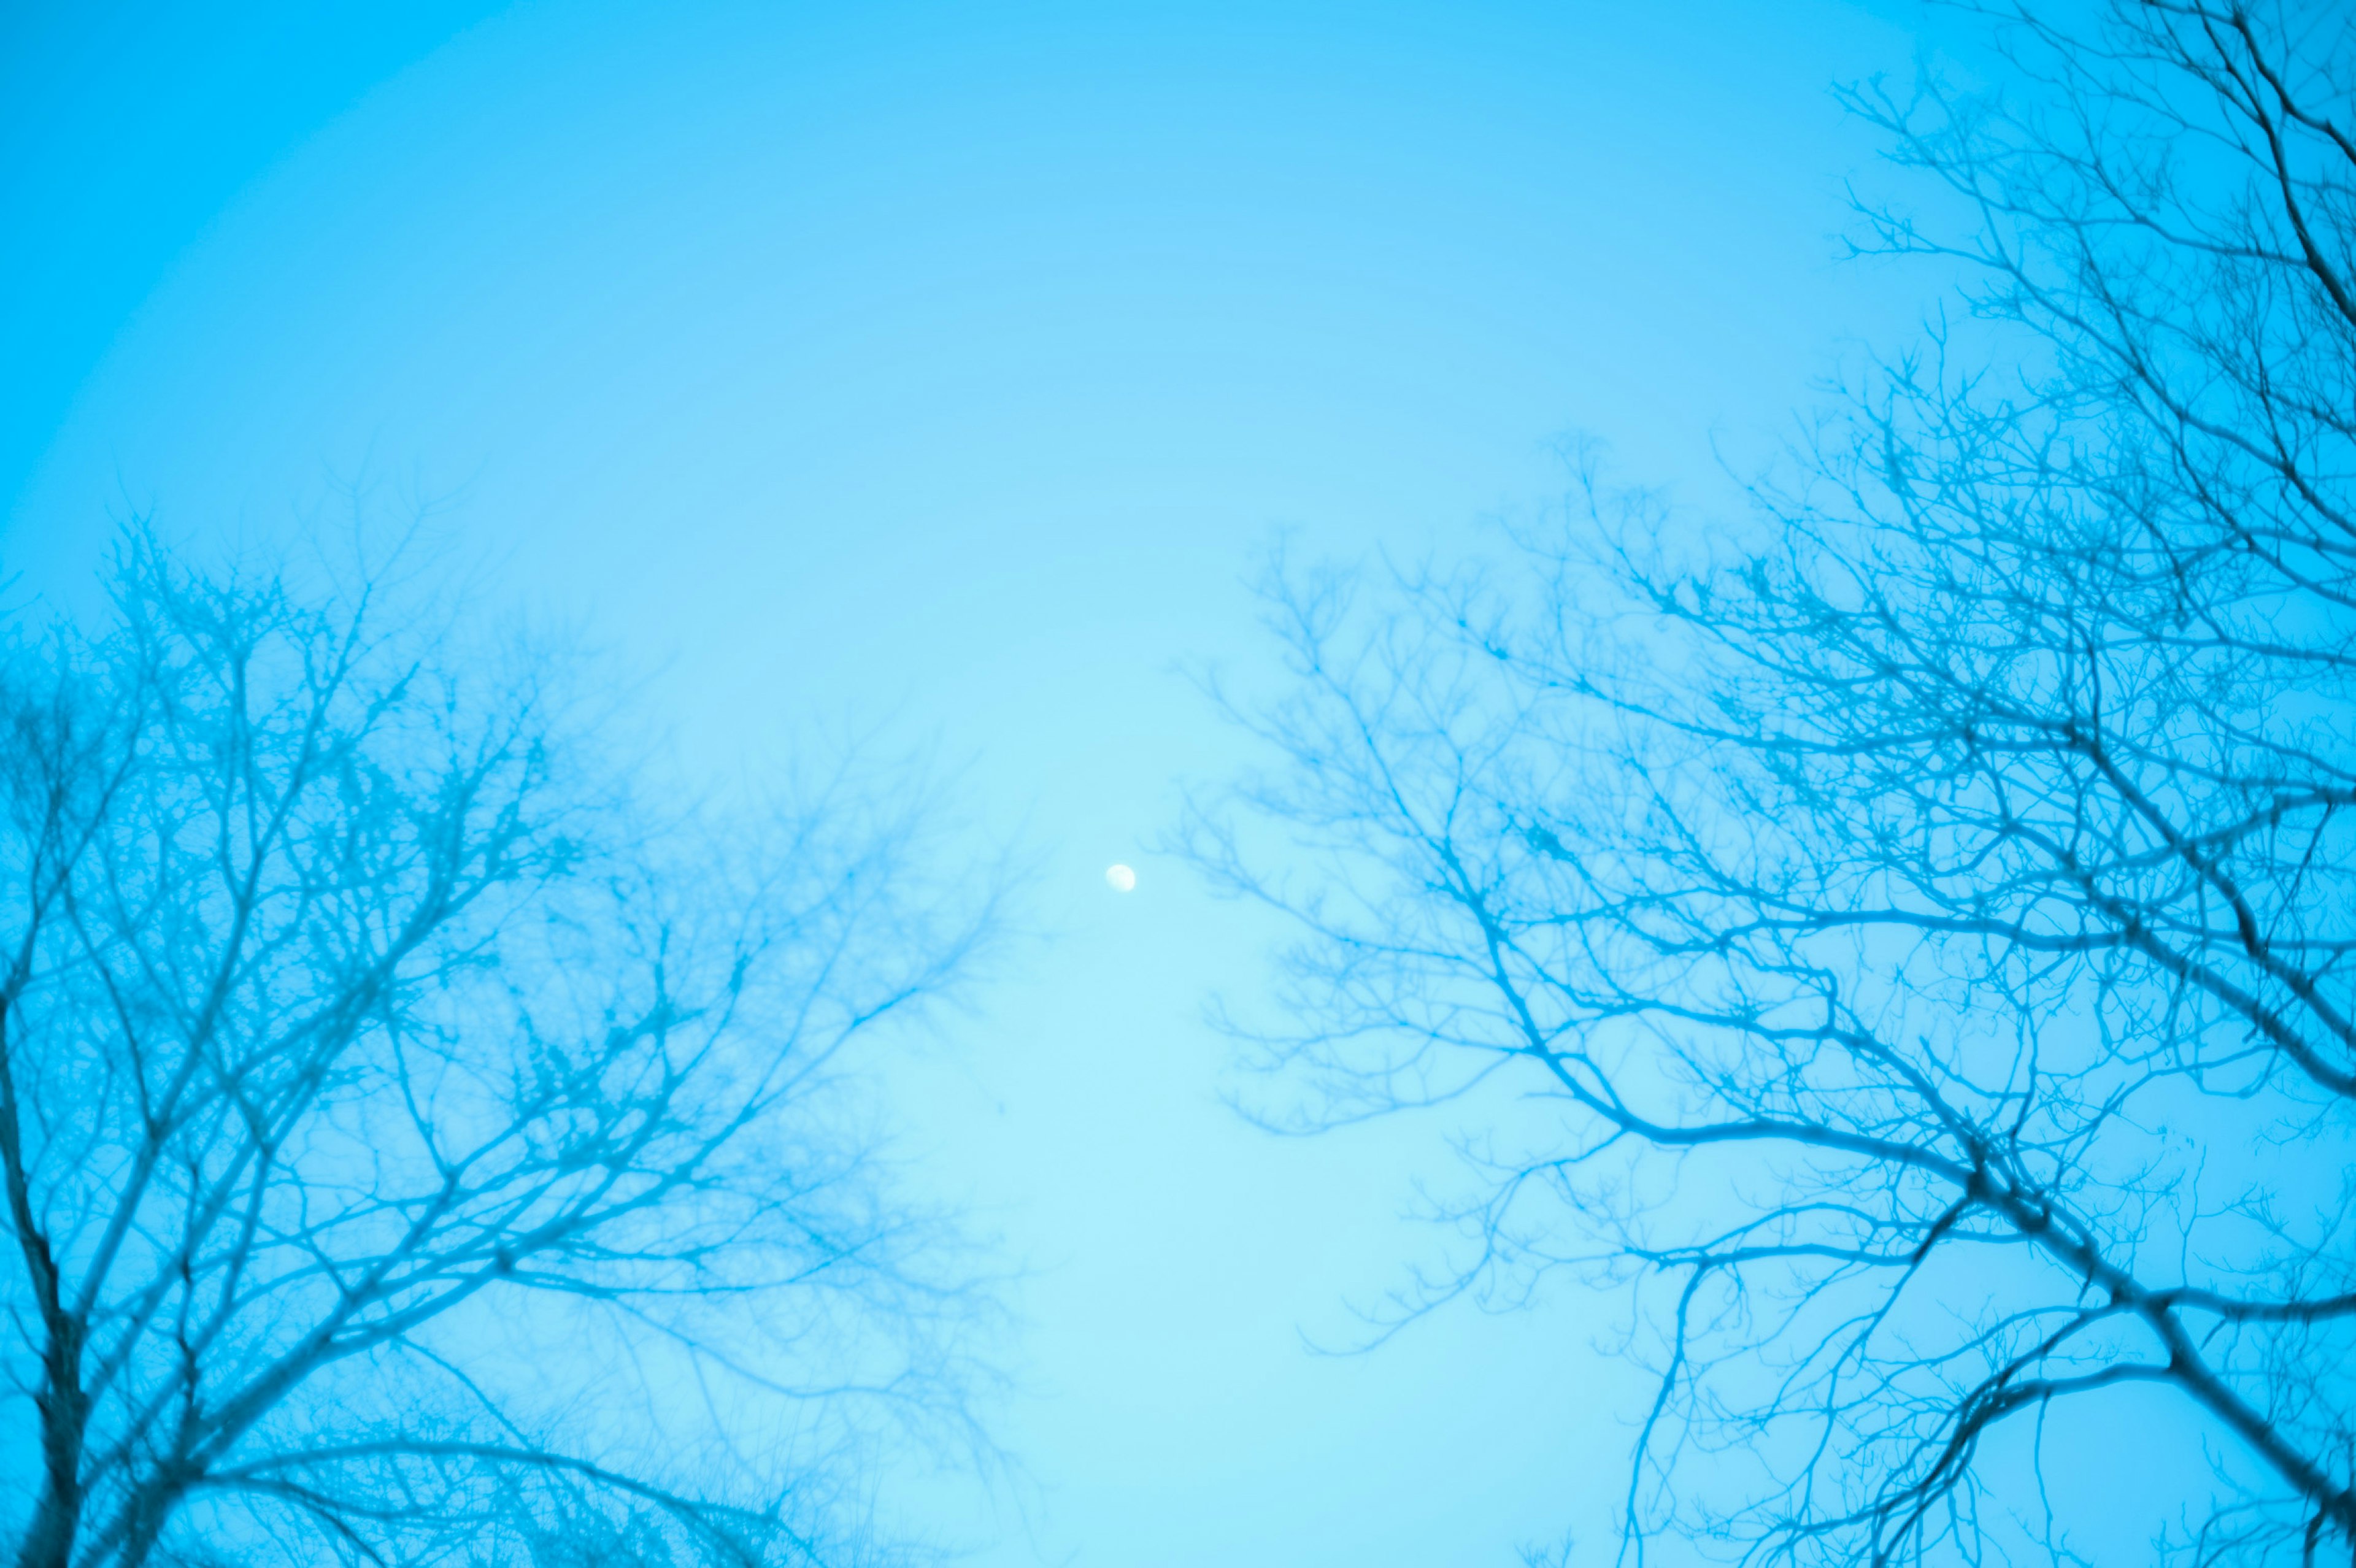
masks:
[[[2356,1547],[2356,16],[1991,21],[2010,97],[1849,99],[1967,327],[1715,532],[1586,473],[1279,574],[1194,822],[1301,923],[1291,1114],[1527,1097],[1437,1295],[1633,1285],[1623,1556],[2066,1559],[2040,1439],[2130,1413],[2163,1549]]]

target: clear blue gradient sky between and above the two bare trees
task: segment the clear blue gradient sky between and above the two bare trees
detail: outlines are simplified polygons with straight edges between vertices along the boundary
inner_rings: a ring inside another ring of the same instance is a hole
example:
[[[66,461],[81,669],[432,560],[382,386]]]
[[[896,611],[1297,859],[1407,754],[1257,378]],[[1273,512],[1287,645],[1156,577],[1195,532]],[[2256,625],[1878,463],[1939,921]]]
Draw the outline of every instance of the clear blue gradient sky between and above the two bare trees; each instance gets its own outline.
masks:
[[[1277,530],[1475,534],[1588,431],[1708,492],[1920,278],[1833,261],[1897,5],[240,5],[0,16],[0,563],[434,504],[712,760],[966,768],[1048,937],[895,1074],[1032,1269],[978,1561],[1510,1563],[1593,1526],[1614,1302],[1348,1302],[1447,1123],[1218,1099],[1265,930],[1152,852]],[[1112,895],[1112,859],[1138,866]]]

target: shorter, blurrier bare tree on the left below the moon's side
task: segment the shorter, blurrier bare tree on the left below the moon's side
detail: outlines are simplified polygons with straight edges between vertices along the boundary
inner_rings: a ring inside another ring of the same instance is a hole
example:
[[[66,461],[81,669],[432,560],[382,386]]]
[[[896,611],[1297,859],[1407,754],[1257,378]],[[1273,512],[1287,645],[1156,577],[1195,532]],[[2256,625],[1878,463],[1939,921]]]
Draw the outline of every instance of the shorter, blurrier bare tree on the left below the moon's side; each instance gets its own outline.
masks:
[[[382,574],[111,610],[0,664],[21,1568],[876,1561],[964,1375],[841,1071],[987,935],[921,800],[657,822]]]

